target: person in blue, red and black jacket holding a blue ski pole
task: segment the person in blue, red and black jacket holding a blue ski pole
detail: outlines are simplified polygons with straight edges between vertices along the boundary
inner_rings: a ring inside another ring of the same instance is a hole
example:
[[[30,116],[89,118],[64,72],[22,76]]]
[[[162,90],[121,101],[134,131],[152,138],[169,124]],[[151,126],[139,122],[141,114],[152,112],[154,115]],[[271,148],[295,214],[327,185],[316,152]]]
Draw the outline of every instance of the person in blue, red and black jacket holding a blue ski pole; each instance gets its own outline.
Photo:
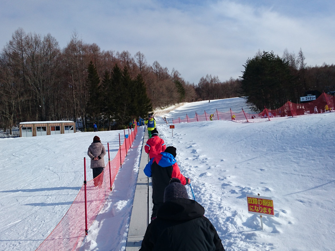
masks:
[[[151,220],[156,218],[157,210],[164,202],[164,189],[170,184],[172,178],[178,178],[184,186],[191,183],[191,180],[185,178],[180,172],[175,159],[176,150],[173,146],[166,147],[164,152],[151,159],[144,168],[145,175],[152,177]]]

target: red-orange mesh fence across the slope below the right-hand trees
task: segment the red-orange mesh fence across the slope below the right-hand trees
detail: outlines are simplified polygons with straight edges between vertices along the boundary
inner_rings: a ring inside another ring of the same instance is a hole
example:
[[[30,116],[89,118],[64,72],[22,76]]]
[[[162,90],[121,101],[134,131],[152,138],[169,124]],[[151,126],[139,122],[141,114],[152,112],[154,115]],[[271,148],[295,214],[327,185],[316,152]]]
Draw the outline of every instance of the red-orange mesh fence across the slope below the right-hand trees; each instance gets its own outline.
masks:
[[[285,116],[294,116],[294,115],[305,115],[313,113],[322,113],[331,110],[334,110],[335,107],[335,96],[322,93],[316,100],[310,101],[308,103],[296,104],[290,101],[287,101],[279,109],[267,109],[264,107],[264,110],[260,113],[246,113],[243,110],[240,112],[228,111],[221,112],[217,109],[213,111],[205,111],[203,114],[198,114],[195,112],[195,115],[190,117],[186,114],[184,118],[172,118],[173,123],[182,123],[182,122],[195,122],[195,121],[206,121],[211,120],[210,115],[212,115],[212,120],[248,120],[254,118],[271,118],[271,117],[285,117]],[[194,116],[194,117],[193,117]]]

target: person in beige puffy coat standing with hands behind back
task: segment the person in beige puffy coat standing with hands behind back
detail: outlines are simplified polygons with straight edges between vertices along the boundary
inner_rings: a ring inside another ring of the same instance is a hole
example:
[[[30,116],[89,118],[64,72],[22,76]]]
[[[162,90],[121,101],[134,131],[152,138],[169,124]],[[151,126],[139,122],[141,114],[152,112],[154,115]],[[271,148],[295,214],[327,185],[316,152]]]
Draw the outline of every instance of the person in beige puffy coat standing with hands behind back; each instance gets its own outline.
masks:
[[[100,173],[104,172],[105,168],[105,160],[104,156],[106,154],[106,149],[104,145],[101,143],[100,138],[98,136],[94,136],[92,144],[88,147],[87,155],[91,159],[91,169],[93,171],[93,180],[94,186],[101,187],[104,179],[104,174],[100,175]],[[99,176],[99,177],[98,177]]]

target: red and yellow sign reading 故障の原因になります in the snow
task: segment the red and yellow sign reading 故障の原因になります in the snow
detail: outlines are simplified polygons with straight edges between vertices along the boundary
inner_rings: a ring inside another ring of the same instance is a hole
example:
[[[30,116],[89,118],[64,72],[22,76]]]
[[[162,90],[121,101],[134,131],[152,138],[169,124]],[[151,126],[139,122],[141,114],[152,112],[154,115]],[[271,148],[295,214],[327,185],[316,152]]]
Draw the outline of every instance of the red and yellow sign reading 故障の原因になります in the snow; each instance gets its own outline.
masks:
[[[271,197],[248,195],[248,212],[264,216],[274,216],[273,200]]]

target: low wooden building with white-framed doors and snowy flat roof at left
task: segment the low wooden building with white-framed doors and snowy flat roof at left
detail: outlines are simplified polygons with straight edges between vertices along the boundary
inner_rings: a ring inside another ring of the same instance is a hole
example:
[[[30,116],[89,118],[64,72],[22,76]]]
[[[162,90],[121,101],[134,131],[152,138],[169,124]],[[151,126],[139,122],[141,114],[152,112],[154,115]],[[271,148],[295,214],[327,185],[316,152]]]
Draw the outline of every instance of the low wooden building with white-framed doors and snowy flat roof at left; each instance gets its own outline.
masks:
[[[19,132],[20,137],[75,133],[76,125],[73,121],[21,122]]]

